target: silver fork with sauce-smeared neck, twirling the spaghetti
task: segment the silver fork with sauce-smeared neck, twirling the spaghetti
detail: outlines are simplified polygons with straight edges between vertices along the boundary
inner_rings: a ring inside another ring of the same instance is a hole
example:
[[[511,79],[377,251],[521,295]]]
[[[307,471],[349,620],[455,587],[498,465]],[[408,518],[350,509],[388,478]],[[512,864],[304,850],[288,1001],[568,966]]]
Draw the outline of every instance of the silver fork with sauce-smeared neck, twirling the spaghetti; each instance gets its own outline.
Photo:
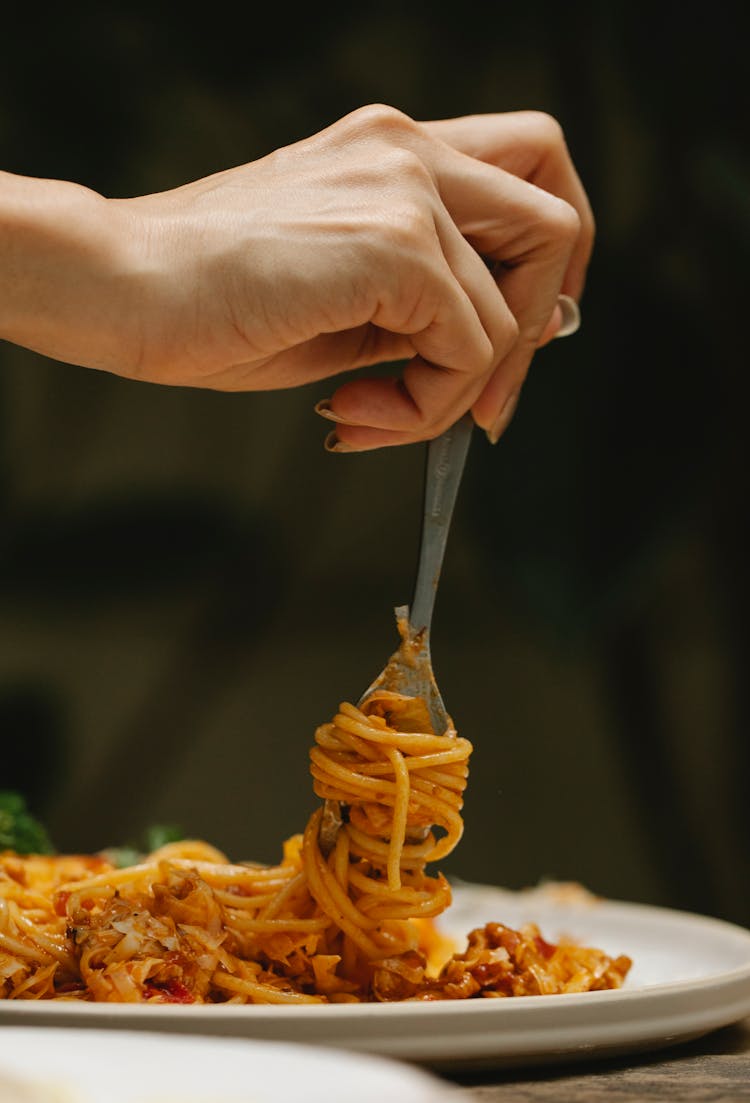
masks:
[[[421,697],[427,705],[432,730],[438,736],[452,729],[452,721],[446,711],[432,672],[430,628],[453,506],[473,426],[471,414],[465,414],[428,446],[425,511],[414,600],[410,608],[398,606],[395,610],[401,635],[400,645],[358,702],[362,707],[377,689],[400,693],[406,697]],[[340,802],[325,801],[320,828],[320,845],[324,854],[331,850],[341,822]]]

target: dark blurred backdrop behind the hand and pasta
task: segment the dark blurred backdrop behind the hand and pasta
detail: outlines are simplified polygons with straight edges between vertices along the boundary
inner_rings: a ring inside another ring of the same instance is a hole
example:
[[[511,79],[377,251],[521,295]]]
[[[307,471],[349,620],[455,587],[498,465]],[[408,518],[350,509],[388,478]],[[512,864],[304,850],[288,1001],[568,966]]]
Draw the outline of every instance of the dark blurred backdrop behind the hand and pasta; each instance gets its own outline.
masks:
[[[475,745],[446,869],[750,924],[742,8],[15,8],[0,164],[125,196],[369,101],[561,121],[599,237],[581,331],[470,454],[433,628]],[[0,361],[0,786],[61,848],[176,822],[275,859],[314,727],[396,643],[424,450],[325,454],[325,384]]]

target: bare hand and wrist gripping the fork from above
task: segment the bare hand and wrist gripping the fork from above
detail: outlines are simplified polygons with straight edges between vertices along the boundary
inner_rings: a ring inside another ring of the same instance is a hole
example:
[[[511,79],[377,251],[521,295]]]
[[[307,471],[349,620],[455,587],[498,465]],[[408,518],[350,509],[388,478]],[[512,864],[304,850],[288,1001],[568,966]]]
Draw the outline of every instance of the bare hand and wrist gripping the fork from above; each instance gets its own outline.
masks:
[[[550,117],[376,105],[135,199],[0,173],[0,338],[176,386],[330,377],[334,451],[430,439],[467,410],[496,440],[592,242]],[[368,377],[384,361],[407,364]]]

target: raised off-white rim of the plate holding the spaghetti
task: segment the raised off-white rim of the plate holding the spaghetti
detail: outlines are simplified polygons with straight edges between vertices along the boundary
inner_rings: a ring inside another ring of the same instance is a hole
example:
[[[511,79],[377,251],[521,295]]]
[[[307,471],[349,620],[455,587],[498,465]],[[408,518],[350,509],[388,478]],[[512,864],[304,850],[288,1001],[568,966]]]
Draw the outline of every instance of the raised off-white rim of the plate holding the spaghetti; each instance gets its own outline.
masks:
[[[494,895],[512,898],[515,904],[544,906],[562,923],[575,915],[593,918],[599,913],[602,919],[609,915],[625,923],[631,918],[640,927],[657,920],[666,929],[674,922],[687,924],[697,934],[712,933],[720,941],[729,938],[732,949],[739,947],[740,955],[747,952],[747,956],[731,968],[704,976],[633,987],[625,982],[621,988],[603,992],[497,999],[282,1006],[0,1000],[0,1025],[41,1026],[44,1021],[69,1028],[202,1037],[221,1032],[223,1037],[293,1042],[296,1039],[283,1030],[286,1024],[289,1029],[307,1030],[309,1038],[300,1038],[302,1042],[459,1068],[591,1059],[654,1049],[700,1037],[750,1015],[750,930],[728,920],[602,897],[554,899],[544,886],[516,891],[464,881],[454,889],[457,903],[464,897],[470,907],[471,893]],[[598,1013],[592,1016],[593,1007]],[[619,1015],[620,1008],[623,1014]],[[349,1030],[340,1030],[343,1024]],[[456,1048],[447,1053],[449,1035]],[[442,1052],[436,1037],[442,1039]]]

